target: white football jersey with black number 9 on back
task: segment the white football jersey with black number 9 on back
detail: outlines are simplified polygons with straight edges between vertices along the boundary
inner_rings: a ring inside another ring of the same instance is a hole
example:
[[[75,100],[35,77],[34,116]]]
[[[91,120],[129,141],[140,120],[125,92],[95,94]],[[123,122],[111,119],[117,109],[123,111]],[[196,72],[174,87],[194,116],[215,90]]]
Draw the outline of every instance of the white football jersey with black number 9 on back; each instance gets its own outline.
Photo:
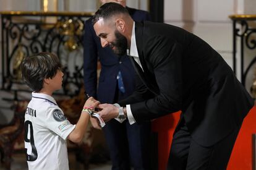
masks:
[[[74,130],[52,96],[32,93],[25,113],[28,169],[69,169],[66,138]]]

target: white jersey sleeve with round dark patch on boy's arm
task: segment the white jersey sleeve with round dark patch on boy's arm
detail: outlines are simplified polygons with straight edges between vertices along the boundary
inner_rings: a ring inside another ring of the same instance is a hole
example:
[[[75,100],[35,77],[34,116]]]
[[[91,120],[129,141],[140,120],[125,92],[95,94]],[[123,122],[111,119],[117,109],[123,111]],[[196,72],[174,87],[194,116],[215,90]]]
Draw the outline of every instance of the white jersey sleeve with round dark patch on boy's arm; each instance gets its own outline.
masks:
[[[46,127],[66,140],[67,136],[75,129],[75,125],[70,124],[61,108],[51,106],[48,108],[45,118]]]

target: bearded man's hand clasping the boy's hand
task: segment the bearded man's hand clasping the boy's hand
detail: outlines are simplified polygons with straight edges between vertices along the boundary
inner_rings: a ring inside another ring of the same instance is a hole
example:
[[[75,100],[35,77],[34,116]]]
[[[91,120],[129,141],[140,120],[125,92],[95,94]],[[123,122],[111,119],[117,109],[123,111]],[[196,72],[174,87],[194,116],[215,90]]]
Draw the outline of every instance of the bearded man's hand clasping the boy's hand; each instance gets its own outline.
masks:
[[[97,108],[101,109],[98,114],[105,122],[117,117],[119,113],[119,109],[113,104],[99,104]]]

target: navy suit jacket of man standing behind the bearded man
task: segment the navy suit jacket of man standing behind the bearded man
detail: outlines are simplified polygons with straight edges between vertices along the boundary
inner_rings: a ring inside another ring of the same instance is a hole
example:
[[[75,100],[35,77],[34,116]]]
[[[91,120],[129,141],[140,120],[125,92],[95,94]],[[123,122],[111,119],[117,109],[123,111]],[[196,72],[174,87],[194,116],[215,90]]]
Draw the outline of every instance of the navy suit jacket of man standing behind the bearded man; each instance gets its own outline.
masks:
[[[132,19],[137,21],[149,20],[149,13],[126,7]],[[92,18],[85,22],[83,79],[85,91],[97,98],[101,103],[113,103],[116,91],[116,77],[121,70],[126,93],[129,96],[135,90],[135,71],[127,56],[115,56],[109,48],[102,48],[100,38],[96,36],[92,25]],[[97,61],[100,60],[101,72],[97,89]]]

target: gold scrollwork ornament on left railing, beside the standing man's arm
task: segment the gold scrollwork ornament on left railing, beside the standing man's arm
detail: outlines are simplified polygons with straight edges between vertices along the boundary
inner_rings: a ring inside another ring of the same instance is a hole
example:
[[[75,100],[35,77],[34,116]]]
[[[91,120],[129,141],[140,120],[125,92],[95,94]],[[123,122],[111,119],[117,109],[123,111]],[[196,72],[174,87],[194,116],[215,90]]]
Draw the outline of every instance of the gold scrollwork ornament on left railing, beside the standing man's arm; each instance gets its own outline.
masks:
[[[74,51],[79,48],[77,41],[75,41],[75,36],[82,35],[83,23],[80,20],[66,20],[60,21],[56,26],[59,30],[60,35],[66,35],[69,38],[64,43],[64,46],[69,51]]]

